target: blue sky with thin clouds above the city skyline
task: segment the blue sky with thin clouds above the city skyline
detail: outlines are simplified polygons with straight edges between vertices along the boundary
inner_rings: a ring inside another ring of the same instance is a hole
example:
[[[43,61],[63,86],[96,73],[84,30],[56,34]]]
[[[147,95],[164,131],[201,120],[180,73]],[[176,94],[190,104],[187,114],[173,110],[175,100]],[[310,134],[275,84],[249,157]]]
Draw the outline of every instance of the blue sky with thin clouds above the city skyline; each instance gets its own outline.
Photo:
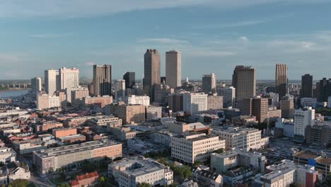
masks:
[[[0,0],[0,79],[111,64],[112,79],[144,77],[144,53],[182,52],[182,79],[231,79],[236,65],[274,79],[330,76],[331,0]]]

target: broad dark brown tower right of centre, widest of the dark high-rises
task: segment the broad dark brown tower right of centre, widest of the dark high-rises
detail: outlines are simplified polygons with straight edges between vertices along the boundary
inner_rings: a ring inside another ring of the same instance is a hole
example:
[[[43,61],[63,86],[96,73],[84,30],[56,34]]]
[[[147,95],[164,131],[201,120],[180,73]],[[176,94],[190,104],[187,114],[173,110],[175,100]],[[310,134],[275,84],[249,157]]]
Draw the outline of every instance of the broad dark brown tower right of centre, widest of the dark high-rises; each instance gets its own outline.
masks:
[[[244,98],[255,96],[256,71],[251,67],[236,66],[232,75],[232,85],[236,88],[238,108]]]

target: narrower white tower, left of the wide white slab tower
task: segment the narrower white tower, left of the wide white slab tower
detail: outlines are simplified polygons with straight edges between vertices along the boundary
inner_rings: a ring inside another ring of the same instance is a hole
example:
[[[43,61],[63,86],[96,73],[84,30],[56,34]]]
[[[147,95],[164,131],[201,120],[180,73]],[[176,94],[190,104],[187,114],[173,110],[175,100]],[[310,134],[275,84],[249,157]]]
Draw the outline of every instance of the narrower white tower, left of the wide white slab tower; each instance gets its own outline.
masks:
[[[47,94],[54,94],[54,91],[60,90],[59,70],[45,70],[45,91]]]

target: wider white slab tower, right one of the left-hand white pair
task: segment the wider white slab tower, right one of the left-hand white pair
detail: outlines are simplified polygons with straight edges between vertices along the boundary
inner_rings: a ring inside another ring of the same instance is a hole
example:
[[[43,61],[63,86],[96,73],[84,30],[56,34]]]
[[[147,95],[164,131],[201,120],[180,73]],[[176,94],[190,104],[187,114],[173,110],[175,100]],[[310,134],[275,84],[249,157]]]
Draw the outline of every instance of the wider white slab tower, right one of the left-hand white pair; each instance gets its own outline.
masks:
[[[71,89],[79,86],[79,69],[62,67],[59,69],[60,89]]]

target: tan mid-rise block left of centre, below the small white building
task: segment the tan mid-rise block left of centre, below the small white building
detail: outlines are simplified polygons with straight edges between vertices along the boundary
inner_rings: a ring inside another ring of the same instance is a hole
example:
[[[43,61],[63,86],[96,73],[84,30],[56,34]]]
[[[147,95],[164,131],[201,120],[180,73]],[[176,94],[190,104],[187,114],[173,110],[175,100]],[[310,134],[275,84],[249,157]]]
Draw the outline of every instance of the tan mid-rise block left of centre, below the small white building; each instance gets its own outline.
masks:
[[[122,105],[117,106],[118,118],[123,124],[141,123],[145,120],[146,107],[142,105]]]

